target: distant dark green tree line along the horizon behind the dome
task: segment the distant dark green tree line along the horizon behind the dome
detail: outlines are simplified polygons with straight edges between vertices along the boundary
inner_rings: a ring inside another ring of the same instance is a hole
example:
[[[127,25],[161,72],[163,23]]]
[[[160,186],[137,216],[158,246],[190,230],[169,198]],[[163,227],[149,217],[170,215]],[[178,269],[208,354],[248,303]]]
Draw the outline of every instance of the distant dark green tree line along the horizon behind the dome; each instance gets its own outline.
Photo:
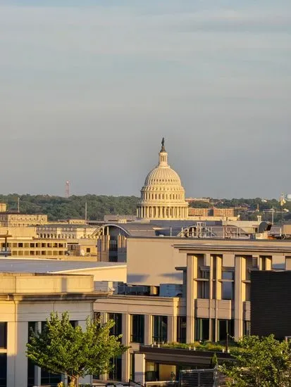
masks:
[[[103,220],[104,215],[135,215],[137,203],[140,198],[136,196],[105,196],[105,195],[84,195],[62,196],[49,195],[0,195],[0,202],[7,204],[8,211],[16,211],[20,199],[20,212],[27,214],[46,214],[49,220],[84,218],[85,203],[87,203],[87,219]],[[280,206],[276,199],[262,201],[261,198],[233,198],[233,199],[211,199],[211,203],[196,201],[190,203],[190,207],[199,208],[241,208],[237,209],[236,215],[240,214],[241,220],[256,220],[257,215],[263,215],[263,220],[271,220],[271,214],[263,214],[265,210],[275,210],[274,220],[291,220],[291,202]],[[283,209],[290,212],[282,212]]]

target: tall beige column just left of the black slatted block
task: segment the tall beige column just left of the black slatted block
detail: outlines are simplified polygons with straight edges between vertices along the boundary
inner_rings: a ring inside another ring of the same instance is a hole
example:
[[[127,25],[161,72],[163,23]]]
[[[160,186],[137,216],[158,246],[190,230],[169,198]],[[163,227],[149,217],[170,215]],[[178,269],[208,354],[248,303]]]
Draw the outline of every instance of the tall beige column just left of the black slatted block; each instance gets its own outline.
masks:
[[[235,256],[235,297],[233,300],[235,306],[235,340],[242,337],[243,333],[243,301],[245,300],[245,285],[242,281],[245,279],[246,258]]]

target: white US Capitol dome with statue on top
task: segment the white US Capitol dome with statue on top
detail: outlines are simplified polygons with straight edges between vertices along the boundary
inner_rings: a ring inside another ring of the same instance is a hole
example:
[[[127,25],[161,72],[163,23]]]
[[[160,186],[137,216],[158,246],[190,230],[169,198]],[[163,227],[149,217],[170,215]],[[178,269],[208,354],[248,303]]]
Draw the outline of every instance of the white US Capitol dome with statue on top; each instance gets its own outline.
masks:
[[[177,172],[168,165],[168,153],[164,139],[161,141],[159,164],[149,172],[137,204],[140,219],[185,220],[188,217],[188,203],[185,189]]]

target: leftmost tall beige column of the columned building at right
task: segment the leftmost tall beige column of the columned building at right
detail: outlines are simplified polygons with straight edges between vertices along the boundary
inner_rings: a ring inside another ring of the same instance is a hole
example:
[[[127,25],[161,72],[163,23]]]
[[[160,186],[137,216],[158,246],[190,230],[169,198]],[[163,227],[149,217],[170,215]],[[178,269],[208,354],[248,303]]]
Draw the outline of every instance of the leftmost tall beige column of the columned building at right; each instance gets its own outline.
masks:
[[[197,298],[197,257],[187,254],[186,341],[194,341],[194,300]]]

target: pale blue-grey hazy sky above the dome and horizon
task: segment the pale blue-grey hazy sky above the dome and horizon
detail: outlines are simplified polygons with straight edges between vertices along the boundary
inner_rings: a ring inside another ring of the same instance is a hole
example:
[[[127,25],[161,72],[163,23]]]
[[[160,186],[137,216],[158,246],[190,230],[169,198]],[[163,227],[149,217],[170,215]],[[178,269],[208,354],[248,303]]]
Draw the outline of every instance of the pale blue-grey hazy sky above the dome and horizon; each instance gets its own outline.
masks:
[[[0,0],[0,194],[291,193],[290,0]]]

